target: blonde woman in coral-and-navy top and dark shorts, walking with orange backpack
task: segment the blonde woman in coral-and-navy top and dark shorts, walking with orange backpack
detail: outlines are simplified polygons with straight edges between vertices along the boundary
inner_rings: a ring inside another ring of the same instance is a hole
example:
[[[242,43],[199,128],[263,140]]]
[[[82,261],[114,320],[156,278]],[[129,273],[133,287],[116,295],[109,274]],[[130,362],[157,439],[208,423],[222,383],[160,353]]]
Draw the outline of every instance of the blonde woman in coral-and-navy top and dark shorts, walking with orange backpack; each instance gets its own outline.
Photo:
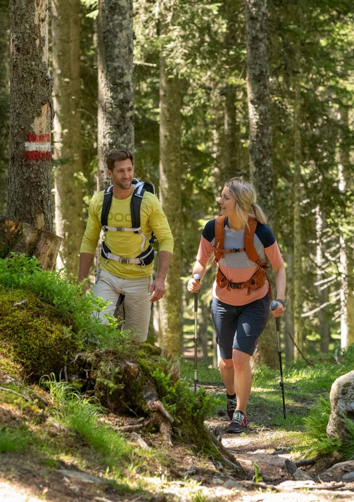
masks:
[[[219,346],[219,370],[226,388],[227,432],[247,427],[246,408],[251,392],[250,357],[266,326],[270,312],[270,284],[264,269],[268,258],[275,276],[279,317],[285,309],[286,274],[282,255],[267,217],[256,204],[250,183],[231,178],[221,192],[220,215],[208,221],[202,232],[192,275],[204,277],[209,258],[217,274],[213,284],[212,319]],[[187,289],[196,293],[200,281],[193,277]]]

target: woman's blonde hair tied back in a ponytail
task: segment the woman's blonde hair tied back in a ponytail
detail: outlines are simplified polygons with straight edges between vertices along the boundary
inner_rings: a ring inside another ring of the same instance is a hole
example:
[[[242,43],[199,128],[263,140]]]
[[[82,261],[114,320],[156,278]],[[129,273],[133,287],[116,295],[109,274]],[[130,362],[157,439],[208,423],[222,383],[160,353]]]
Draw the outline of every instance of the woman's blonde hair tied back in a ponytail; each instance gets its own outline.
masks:
[[[225,186],[236,200],[236,214],[245,225],[247,225],[247,214],[251,209],[259,223],[267,223],[267,216],[263,213],[262,208],[256,204],[256,191],[251,183],[241,178],[230,178]]]

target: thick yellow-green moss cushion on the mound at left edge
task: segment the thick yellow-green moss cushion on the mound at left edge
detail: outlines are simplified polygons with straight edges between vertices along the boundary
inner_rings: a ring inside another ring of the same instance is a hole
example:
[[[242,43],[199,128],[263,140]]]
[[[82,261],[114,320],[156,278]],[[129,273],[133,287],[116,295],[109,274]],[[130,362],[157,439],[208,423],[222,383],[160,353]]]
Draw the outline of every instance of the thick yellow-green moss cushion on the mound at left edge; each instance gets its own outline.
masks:
[[[7,360],[34,380],[58,373],[81,348],[81,340],[54,306],[34,293],[0,288],[0,340]]]

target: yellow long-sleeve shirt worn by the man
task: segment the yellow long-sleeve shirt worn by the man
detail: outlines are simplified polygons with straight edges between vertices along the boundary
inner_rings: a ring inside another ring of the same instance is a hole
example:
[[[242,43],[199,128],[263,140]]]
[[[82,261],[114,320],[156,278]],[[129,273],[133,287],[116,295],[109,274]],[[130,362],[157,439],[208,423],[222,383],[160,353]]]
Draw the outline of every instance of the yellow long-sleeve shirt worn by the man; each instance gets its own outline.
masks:
[[[80,253],[95,254],[97,243],[100,237],[101,212],[103,205],[104,190],[96,193],[91,199],[88,207],[88,219],[86,230],[82,237]],[[112,203],[108,214],[108,226],[132,228],[132,219],[130,213],[131,198],[116,199],[112,196]],[[150,192],[145,192],[141,201],[140,208],[141,230],[148,238],[153,231],[158,240],[159,251],[173,252],[173,237],[168,225],[167,218],[162,210],[161,204]],[[105,237],[111,253],[124,258],[136,258],[142,252],[142,237],[134,232],[116,232],[108,230]],[[145,242],[145,250],[149,242]],[[140,265],[129,263],[119,263],[115,260],[106,261],[102,256],[100,258],[100,268],[110,274],[123,279],[139,279],[150,277],[152,274],[153,263],[141,267]]]

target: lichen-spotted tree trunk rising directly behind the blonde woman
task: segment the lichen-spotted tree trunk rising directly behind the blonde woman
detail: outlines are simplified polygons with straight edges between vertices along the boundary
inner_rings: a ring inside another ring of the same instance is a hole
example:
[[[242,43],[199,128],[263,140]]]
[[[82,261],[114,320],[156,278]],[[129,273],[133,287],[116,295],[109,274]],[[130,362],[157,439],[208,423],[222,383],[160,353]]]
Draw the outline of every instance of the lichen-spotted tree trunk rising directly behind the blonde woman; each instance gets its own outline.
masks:
[[[247,99],[249,115],[250,179],[258,203],[273,223],[272,128],[269,92],[269,44],[267,0],[246,0]],[[257,364],[278,364],[273,319],[267,323],[253,358]]]

